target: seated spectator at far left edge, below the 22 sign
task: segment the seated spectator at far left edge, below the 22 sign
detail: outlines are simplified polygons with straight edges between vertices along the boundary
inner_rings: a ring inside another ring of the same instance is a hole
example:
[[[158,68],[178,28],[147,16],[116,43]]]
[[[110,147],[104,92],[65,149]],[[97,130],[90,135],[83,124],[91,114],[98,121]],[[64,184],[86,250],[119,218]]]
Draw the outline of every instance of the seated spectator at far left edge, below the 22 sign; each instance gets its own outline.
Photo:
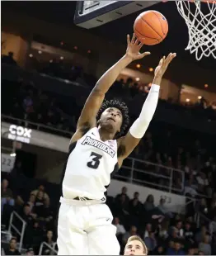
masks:
[[[13,197],[13,193],[12,190],[10,188],[8,188],[8,181],[7,179],[3,179],[2,180],[2,187],[1,187],[1,212],[3,211],[3,206],[5,204],[9,204],[10,206],[14,206],[14,197]]]

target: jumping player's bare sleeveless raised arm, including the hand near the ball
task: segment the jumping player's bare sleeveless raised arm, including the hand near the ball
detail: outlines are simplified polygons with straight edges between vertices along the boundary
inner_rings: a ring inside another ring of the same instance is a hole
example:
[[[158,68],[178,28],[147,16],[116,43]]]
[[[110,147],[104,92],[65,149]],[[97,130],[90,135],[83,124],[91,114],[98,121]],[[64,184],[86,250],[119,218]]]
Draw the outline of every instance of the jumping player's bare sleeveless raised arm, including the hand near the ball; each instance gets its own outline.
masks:
[[[135,59],[142,59],[144,56],[150,55],[149,52],[144,52],[143,54],[139,53],[139,50],[143,45],[139,40],[136,40],[135,36],[133,36],[130,41],[128,35],[127,43],[128,47],[126,54],[102,75],[97,81],[96,86],[92,89],[77,121],[77,131],[73,135],[71,142],[78,140],[82,136],[82,130],[96,126],[96,114],[101,107],[106,92],[115,82],[116,78],[118,78],[120,72]]]

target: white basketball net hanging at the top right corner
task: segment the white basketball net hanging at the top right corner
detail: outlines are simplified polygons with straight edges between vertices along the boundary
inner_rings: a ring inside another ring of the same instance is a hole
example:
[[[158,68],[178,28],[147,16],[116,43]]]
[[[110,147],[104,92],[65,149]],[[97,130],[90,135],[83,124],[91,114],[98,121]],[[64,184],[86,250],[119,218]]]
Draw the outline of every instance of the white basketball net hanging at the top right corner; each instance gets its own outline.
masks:
[[[212,55],[216,59],[216,1],[176,1],[188,26],[189,42],[185,50],[200,60]]]

